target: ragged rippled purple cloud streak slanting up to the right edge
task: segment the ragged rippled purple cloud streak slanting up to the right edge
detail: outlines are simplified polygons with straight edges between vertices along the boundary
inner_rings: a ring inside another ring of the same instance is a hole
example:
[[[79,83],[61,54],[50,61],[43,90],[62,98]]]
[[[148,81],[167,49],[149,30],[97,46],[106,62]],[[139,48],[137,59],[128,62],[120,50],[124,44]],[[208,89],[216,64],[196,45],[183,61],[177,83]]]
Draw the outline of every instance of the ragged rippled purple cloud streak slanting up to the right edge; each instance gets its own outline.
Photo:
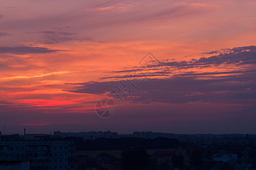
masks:
[[[199,59],[191,59],[190,61],[172,61],[162,60],[158,65],[154,65],[152,68],[147,68],[148,71],[152,70],[163,70],[159,72],[161,75],[168,75],[171,73],[171,69],[192,69],[198,68],[203,69],[212,66],[220,65],[252,65],[256,63],[256,46],[243,46],[232,49],[221,49],[213,52],[208,52],[208,54],[220,53],[216,56],[211,57],[201,57]],[[127,69],[127,68],[124,68]],[[143,70],[143,67],[137,69],[138,71]],[[121,70],[121,71],[112,71],[111,73],[129,73],[130,71],[136,71],[133,69]],[[153,73],[156,74],[156,73]],[[139,76],[139,75],[138,75]],[[157,76],[157,75],[154,75]],[[107,78],[123,78],[123,76],[109,76],[103,77],[101,79]]]

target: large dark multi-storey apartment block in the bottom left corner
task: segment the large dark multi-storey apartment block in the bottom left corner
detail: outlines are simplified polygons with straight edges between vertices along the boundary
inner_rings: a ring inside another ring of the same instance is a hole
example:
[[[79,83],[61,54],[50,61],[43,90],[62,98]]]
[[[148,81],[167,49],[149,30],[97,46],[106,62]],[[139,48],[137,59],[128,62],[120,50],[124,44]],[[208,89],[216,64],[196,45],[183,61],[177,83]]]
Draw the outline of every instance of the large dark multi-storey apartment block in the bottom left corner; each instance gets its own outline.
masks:
[[[37,140],[0,139],[0,161],[29,161],[30,170],[74,169],[72,141],[46,141],[45,136],[37,136]]]

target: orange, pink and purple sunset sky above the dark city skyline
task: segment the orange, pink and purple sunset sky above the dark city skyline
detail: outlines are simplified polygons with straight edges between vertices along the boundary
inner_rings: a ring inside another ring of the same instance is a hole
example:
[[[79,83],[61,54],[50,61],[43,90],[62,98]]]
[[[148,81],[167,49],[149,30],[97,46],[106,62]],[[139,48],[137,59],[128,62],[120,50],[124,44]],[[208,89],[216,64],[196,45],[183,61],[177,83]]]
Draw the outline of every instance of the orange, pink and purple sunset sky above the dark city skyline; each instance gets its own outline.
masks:
[[[256,133],[255,0],[0,4],[2,133]]]

